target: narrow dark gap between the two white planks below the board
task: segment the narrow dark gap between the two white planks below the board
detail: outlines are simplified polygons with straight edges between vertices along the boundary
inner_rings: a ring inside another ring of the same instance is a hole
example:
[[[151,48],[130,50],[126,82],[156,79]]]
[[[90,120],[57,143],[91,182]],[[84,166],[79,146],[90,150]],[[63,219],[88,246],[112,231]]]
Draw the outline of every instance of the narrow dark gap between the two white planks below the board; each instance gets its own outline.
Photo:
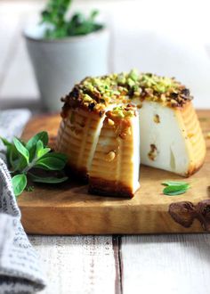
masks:
[[[112,235],[116,268],[115,294],[123,294],[123,259],[121,255],[121,244],[122,237],[120,235]]]

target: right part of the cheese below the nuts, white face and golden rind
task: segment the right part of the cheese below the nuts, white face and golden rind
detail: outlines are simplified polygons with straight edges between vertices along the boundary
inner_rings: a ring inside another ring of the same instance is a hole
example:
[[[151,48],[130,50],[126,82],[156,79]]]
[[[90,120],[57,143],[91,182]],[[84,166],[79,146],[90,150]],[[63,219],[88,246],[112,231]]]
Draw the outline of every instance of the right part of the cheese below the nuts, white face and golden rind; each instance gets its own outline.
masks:
[[[190,176],[202,166],[206,143],[192,103],[181,109],[145,101],[140,110],[141,163]]]

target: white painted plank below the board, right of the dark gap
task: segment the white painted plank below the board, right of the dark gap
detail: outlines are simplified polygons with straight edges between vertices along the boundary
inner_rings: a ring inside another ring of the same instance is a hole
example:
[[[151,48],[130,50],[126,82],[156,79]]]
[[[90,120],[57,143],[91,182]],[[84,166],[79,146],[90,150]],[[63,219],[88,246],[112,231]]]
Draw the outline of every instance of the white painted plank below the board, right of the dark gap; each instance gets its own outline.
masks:
[[[123,293],[209,293],[210,235],[122,238]]]

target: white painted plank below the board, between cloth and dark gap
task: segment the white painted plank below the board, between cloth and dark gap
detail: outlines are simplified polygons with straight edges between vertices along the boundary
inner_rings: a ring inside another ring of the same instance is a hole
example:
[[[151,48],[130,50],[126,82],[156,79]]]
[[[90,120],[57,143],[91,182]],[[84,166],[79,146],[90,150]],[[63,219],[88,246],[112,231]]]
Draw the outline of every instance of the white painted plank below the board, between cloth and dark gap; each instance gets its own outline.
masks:
[[[30,236],[47,273],[43,294],[114,294],[115,258],[110,236]]]

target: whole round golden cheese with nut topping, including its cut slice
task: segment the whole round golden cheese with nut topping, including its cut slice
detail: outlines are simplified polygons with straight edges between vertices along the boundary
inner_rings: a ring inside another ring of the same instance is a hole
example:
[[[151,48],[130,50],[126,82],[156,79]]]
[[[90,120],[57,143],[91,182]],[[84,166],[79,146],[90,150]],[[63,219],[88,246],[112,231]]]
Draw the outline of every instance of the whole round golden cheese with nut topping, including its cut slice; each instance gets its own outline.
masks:
[[[67,154],[78,179],[90,178],[90,192],[103,195],[133,196],[140,155],[144,165],[190,176],[206,155],[191,100],[190,91],[174,78],[150,73],[85,78],[62,98],[56,150]],[[127,115],[133,113],[131,103],[139,118]],[[123,140],[116,134],[125,122],[131,134]],[[106,160],[106,154],[113,159]]]

